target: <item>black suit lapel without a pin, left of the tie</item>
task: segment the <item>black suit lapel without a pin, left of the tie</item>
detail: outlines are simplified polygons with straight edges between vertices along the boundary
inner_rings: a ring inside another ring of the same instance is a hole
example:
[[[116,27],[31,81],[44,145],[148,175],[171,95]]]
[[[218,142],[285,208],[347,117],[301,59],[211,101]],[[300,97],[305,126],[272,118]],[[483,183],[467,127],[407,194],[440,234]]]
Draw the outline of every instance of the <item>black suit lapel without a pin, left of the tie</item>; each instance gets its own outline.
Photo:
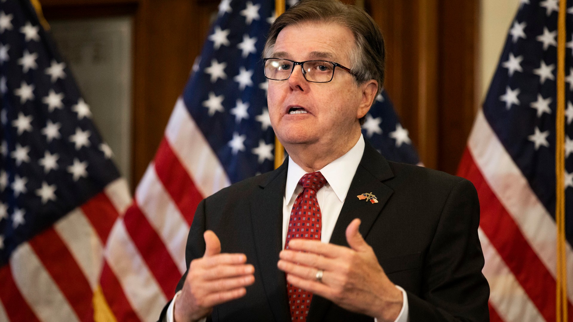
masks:
[[[276,321],[290,321],[285,274],[277,268],[282,249],[282,201],[288,158],[251,198],[251,222],[262,284]]]

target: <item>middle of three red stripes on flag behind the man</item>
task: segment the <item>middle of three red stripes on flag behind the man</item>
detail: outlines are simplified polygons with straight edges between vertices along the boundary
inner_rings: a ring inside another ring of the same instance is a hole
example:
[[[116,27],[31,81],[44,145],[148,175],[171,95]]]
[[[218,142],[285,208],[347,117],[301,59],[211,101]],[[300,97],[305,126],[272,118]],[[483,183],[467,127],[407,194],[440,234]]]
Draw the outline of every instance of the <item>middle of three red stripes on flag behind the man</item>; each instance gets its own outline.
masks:
[[[143,260],[147,263],[167,299],[170,299],[175,295],[175,286],[181,278],[181,273],[162,239],[147,221],[136,201],[127,209],[123,220],[125,229],[133,239]]]

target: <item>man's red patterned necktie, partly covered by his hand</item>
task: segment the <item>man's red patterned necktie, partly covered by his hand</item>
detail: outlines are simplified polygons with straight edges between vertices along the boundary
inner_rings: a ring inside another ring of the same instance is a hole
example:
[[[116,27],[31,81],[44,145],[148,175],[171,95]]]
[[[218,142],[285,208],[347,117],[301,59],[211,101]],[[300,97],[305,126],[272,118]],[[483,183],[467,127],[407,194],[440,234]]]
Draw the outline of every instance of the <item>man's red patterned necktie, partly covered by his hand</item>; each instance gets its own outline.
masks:
[[[307,173],[300,178],[299,184],[303,186],[303,191],[296,197],[295,204],[292,206],[291,219],[288,223],[288,231],[286,231],[285,249],[288,249],[288,243],[292,238],[320,241],[322,221],[316,192],[326,183],[326,179],[320,172]],[[306,322],[312,293],[290,283],[286,284],[286,291],[291,309],[291,320]]]

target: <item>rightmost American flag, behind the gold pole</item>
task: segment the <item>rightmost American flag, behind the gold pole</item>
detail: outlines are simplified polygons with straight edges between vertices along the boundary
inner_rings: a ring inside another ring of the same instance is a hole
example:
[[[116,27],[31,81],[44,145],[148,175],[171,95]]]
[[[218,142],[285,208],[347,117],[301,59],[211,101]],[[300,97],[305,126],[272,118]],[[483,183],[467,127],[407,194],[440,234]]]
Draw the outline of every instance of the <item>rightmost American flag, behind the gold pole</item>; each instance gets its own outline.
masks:
[[[458,175],[481,207],[492,321],[555,321],[558,0],[522,0]],[[573,312],[573,7],[567,10],[566,237]],[[569,321],[573,316],[569,314]]]

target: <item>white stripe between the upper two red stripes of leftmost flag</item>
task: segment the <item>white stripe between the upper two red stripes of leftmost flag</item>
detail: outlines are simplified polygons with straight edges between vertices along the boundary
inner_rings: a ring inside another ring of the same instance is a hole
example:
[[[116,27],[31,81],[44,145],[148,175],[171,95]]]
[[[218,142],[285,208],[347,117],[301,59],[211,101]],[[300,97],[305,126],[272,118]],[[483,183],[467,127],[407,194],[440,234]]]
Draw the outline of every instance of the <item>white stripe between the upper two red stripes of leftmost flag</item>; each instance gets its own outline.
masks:
[[[80,208],[70,211],[56,222],[54,230],[72,253],[89,286],[95,290],[103,264],[103,245],[83,211]]]

